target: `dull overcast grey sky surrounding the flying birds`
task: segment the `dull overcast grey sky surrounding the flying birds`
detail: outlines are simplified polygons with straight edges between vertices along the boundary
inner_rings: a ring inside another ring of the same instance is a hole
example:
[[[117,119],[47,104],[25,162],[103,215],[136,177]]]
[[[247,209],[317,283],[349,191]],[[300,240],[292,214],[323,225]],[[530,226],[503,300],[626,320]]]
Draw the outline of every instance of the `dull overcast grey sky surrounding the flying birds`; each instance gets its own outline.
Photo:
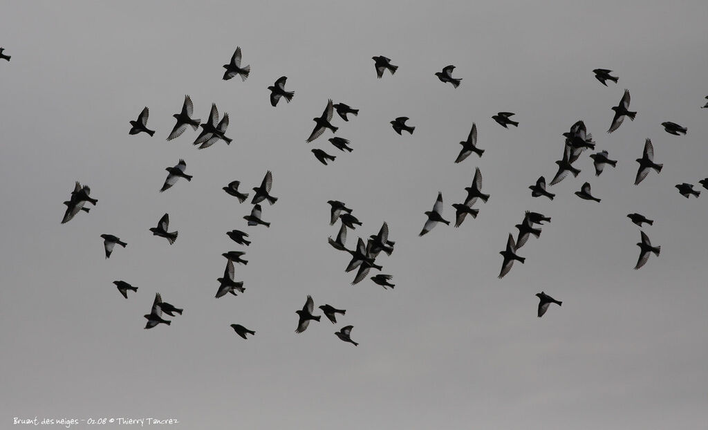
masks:
[[[708,191],[674,185],[708,176],[704,1],[5,2],[0,45],[4,149],[0,244],[0,419],[162,417],[211,429],[696,429],[708,422]],[[580,2],[578,2],[580,3]],[[222,81],[236,46],[251,76]],[[376,79],[371,57],[398,65]],[[455,64],[462,85],[433,76]],[[605,88],[592,69],[612,69]],[[292,103],[270,106],[287,76]],[[612,135],[610,108],[632,93],[634,122]],[[212,102],[234,142],[198,151],[196,133],[166,142],[184,94],[205,120]],[[307,144],[328,98],[360,108],[337,135]],[[128,122],[150,108],[154,137]],[[519,128],[491,120],[512,111]],[[389,121],[409,116],[413,136]],[[617,159],[596,178],[586,155],[577,179],[550,181],[563,137],[582,119],[598,150]],[[672,120],[685,137],[663,131]],[[461,164],[472,122],[479,147]],[[661,174],[634,186],[644,140]],[[310,149],[337,156],[330,166]],[[158,193],[187,162],[193,181]],[[464,200],[476,166],[489,203],[455,229],[418,237],[442,191],[445,217]],[[246,227],[245,189],[273,171],[272,227]],[[98,198],[60,225],[74,181]],[[590,181],[601,203],[573,195]],[[700,186],[697,186],[698,189]],[[326,238],[327,200],[354,209],[394,254],[379,256],[394,290],[349,285],[348,255]],[[552,217],[498,280],[508,232],[524,210]],[[148,231],[170,214],[173,246]],[[636,264],[639,228],[661,256]],[[246,293],[214,298],[225,232],[249,232]],[[102,233],[128,243],[104,259]],[[112,281],[139,288],[123,299]],[[562,307],[536,317],[535,293]],[[144,330],[154,293],[184,307],[171,327]],[[306,295],[347,310],[295,334]],[[244,341],[229,324],[256,336]],[[353,324],[354,347],[333,332]],[[81,428],[81,426],[79,426]]]

